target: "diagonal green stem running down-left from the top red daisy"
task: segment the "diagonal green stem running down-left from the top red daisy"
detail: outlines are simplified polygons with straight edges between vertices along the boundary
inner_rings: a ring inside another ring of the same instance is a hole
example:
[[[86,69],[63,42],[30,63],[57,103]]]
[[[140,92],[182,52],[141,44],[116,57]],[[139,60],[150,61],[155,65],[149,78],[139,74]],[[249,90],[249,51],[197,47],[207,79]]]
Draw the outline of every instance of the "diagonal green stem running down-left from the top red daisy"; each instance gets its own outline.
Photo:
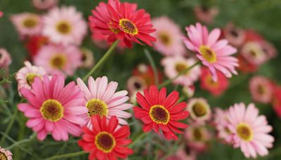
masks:
[[[114,50],[114,48],[117,46],[118,44],[118,40],[115,41],[115,43],[113,43],[110,48],[107,50],[107,52],[105,53],[105,55],[103,55],[102,58],[100,58],[100,60],[98,61],[98,63],[91,69],[91,71],[84,76],[83,81],[86,81],[86,79],[89,78],[89,76],[91,76],[94,72],[96,72],[98,70],[98,68],[103,65],[103,62],[105,62],[105,60],[107,60],[107,58],[110,57],[110,55],[113,53],[112,51]]]

